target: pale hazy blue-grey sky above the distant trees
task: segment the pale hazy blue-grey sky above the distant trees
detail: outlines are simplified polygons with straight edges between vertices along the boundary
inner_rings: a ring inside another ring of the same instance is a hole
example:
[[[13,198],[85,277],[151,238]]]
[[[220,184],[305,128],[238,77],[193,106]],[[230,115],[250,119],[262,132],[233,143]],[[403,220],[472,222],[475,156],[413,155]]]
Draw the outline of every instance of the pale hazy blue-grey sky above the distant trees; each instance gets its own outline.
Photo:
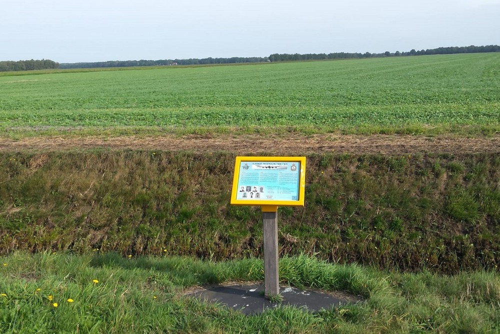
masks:
[[[0,61],[500,45],[500,0],[0,0]]]

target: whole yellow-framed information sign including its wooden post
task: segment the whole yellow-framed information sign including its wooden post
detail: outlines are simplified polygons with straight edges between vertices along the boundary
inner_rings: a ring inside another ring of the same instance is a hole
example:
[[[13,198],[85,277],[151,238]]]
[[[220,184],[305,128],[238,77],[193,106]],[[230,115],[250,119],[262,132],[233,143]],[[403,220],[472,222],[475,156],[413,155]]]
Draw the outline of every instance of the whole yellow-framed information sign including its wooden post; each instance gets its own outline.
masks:
[[[279,294],[278,206],[304,206],[305,157],[236,157],[231,204],[258,205],[264,239],[264,294]]]

